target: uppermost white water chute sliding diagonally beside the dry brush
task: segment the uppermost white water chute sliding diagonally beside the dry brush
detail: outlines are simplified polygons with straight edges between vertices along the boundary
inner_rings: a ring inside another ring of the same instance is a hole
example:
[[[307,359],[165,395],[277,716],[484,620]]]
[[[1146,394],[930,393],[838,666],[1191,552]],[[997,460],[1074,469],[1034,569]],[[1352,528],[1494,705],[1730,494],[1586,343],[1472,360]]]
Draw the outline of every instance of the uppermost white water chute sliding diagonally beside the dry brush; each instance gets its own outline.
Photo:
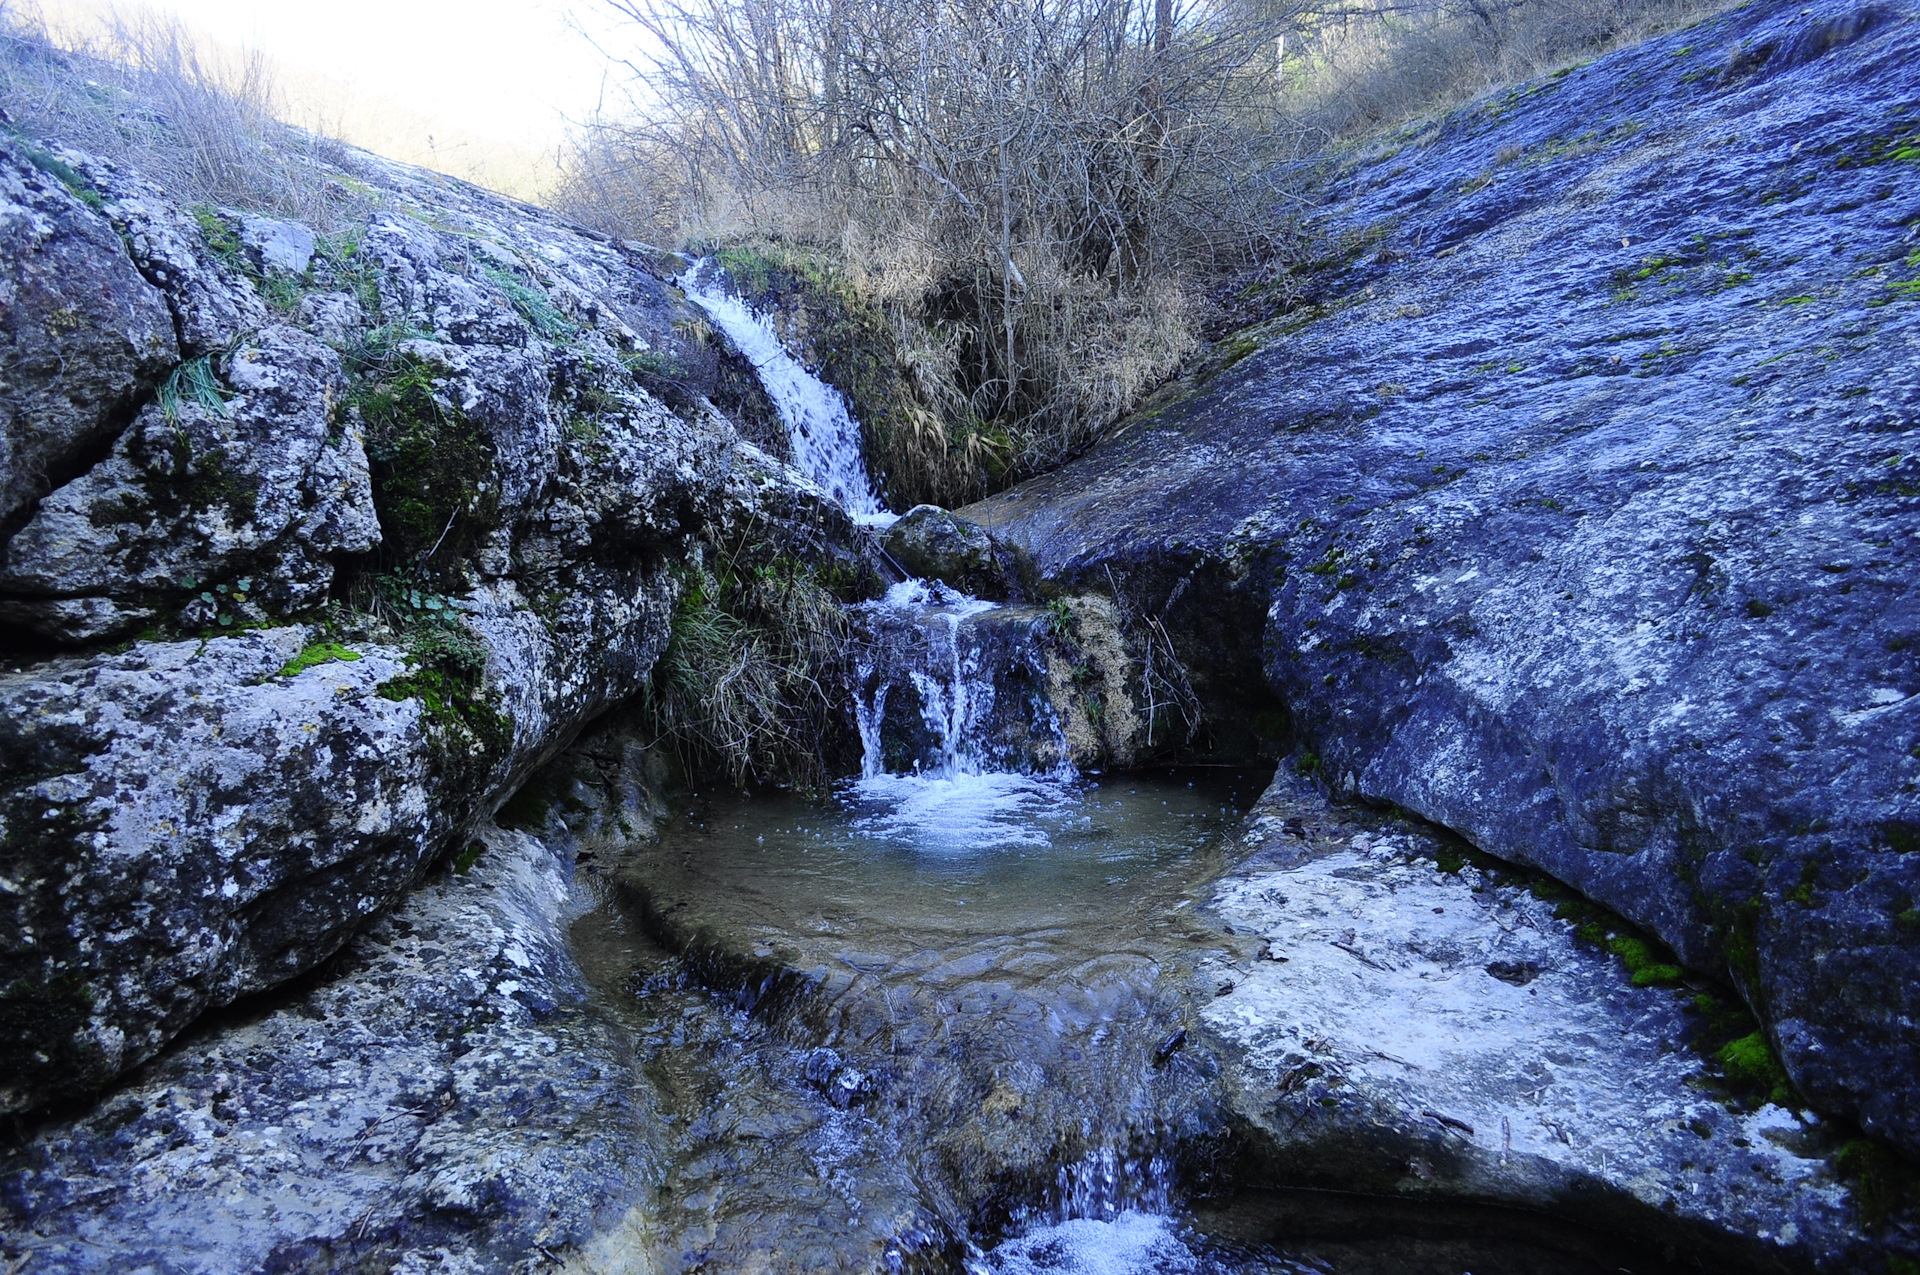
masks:
[[[735,296],[699,282],[699,261],[680,277],[680,286],[687,300],[705,309],[733,346],[747,355],[753,369],[766,386],[766,396],[774,399],[781,424],[787,426],[787,444],[793,447],[793,465],[826,488],[854,522],[866,526],[893,526],[899,515],[874,495],[866,478],[866,465],[860,459],[860,426],[847,411],[847,399],[839,390],[822,382],[787,353],[774,332],[774,323],[756,313]]]

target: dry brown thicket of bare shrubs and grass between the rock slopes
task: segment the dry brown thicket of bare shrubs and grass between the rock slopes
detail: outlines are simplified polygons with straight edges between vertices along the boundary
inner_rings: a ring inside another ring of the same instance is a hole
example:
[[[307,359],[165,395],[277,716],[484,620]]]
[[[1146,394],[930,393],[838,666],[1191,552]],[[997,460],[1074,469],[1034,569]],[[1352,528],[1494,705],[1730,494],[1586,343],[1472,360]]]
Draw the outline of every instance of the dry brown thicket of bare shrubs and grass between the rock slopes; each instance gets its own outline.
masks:
[[[831,259],[885,315],[912,399],[887,409],[912,428],[870,430],[870,465],[895,499],[948,505],[1085,445],[1223,323],[1223,298],[1319,255],[1313,177],[1352,138],[1699,8],[603,4],[647,50],[628,63],[641,94],[586,132],[561,207]]]

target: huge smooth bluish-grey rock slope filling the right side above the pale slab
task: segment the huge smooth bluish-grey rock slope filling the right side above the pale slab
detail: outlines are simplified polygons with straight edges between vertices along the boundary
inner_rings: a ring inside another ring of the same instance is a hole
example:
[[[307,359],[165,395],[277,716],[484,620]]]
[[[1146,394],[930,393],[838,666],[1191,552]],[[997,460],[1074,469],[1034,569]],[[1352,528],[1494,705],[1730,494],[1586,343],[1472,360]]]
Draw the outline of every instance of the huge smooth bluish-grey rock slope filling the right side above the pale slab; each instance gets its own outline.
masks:
[[[1112,578],[1215,710],[1273,695],[1331,787],[1732,981],[1907,1150],[1916,54],[1747,6],[1409,127],[1331,179],[1311,305],[962,511]]]

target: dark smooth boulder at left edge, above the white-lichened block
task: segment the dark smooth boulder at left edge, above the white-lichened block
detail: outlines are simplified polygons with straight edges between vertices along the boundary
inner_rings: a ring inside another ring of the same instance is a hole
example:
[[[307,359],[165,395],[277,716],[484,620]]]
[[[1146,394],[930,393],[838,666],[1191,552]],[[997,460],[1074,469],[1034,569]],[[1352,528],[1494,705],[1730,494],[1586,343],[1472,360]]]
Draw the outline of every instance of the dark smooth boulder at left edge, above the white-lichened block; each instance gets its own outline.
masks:
[[[165,298],[113,227],[0,138],[0,543],[177,361]]]

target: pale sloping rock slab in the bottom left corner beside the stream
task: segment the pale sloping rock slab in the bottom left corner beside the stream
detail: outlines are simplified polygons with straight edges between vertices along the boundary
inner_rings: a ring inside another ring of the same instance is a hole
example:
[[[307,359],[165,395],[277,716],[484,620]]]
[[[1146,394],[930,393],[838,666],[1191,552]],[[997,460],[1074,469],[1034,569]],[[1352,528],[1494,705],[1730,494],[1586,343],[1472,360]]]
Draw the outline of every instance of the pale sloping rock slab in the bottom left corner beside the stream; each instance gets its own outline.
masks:
[[[484,828],[323,981],[10,1148],[0,1254],[61,1275],[505,1271],[612,1229],[651,1192],[657,1118],[568,952],[586,901],[559,849]]]

